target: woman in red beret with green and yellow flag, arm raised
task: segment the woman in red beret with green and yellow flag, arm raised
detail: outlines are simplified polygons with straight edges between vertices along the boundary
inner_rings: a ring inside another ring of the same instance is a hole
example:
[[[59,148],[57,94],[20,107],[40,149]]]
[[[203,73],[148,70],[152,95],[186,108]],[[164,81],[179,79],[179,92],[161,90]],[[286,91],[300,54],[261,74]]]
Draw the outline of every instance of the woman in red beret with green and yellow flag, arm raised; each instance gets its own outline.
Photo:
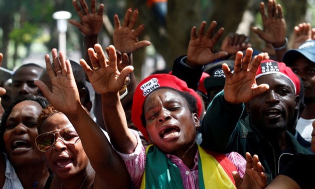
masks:
[[[88,53],[92,66],[100,68],[92,70],[83,59],[80,63],[95,91],[102,95],[107,132],[135,188],[246,187],[232,175],[237,171],[243,177],[244,157],[236,152],[206,151],[196,143],[201,101],[186,82],[174,75],[154,74],[138,84],[131,119],[151,143],[143,146],[138,133],[127,127],[118,93],[133,67],[117,70],[112,45],[108,58],[99,44],[89,48]]]

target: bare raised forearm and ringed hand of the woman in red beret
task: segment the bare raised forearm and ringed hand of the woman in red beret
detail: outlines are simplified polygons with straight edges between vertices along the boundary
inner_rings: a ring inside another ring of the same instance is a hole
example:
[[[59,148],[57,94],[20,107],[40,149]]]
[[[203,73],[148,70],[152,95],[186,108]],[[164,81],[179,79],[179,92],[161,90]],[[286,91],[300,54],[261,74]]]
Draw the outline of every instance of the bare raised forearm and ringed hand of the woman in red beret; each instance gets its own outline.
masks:
[[[125,78],[133,70],[131,65],[118,71],[116,51],[113,45],[108,48],[108,59],[99,44],[89,48],[88,53],[94,67],[92,70],[84,59],[80,60],[96,92],[102,96],[102,111],[106,130],[112,145],[122,153],[131,153],[137,144],[135,135],[128,130],[126,116],[119,99],[119,90]]]

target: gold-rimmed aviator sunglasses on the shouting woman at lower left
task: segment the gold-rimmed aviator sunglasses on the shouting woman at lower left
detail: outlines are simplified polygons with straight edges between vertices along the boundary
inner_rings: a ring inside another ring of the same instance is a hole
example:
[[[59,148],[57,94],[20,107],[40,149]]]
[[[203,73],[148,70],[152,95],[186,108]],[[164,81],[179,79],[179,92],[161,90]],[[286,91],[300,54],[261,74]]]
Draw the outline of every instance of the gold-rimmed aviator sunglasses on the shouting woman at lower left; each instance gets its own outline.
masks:
[[[64,143],[75,144],[80,141],[78,133],[75,131],[73,126],[63,128],[61,130],[52,130],[38,135],[35,138],[36,147],[42,151],[49,151],[56,143],[58,135]]]

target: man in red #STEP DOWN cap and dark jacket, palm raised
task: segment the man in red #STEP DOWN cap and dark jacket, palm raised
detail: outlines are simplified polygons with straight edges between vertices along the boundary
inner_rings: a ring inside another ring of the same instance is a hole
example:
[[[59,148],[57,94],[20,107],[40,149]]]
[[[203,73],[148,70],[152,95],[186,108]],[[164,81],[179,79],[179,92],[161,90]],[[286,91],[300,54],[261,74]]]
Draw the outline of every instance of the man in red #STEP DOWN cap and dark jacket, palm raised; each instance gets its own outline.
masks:
[[[311,153],[287,130],[298,108],[300,81],[282,62],[251,62],[252,49],[243,58],[237,52],[234,72],[223,64],[224,90],[219,92],[202,121],[201,146],[218,152],[237,151],[257,154],[269,183],[293,160],[293,154]],[[240,119],[243,109],[248,113]]]

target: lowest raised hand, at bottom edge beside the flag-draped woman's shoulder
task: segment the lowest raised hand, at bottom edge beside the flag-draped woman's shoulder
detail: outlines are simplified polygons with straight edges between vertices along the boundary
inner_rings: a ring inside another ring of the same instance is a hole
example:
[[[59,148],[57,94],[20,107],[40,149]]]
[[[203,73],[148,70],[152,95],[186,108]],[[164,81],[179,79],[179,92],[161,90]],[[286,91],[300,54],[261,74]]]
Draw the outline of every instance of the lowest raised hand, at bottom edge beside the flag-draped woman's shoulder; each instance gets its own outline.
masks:
[[[264,173],[265,169],[260,163],[258,155],[252,157],[249,152],[246,152],[245,156],[247,163],[244,177],[241,178],[237,171],[232,172],[236,187],[239,189],[265,188],[267,185],[267,176]]]

